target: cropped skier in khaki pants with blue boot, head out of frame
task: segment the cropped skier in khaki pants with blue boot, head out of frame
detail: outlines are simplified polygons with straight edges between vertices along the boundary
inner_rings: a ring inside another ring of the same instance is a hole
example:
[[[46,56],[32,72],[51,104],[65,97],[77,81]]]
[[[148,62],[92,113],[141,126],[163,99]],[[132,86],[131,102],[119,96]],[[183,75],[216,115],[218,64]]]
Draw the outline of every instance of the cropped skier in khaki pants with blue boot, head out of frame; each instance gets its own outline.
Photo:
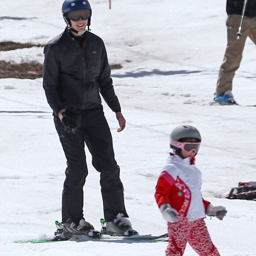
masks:
[[[237,104],[233,98],[232,87],[235,72],[240,67],[245,41],[249,37],[256,44],[256,0],[248,0],[241,28],[241,37],[237,39],[238,28],[245,0],[227,0],[228,18],[227,47],[220,67],[214,100],[222,105]]]

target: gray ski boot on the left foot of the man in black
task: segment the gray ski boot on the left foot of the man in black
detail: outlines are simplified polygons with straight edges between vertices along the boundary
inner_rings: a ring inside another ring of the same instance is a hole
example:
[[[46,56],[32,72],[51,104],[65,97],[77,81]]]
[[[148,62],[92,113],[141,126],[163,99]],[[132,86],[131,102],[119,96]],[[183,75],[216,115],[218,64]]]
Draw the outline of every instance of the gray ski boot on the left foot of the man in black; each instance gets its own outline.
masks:
[[[67,231],[71,234],[76,234],[76,235],[90,235],[90,233],[94,231],[94,227],[84,219],[81,219],[79,221],[79,224],[76,225],[69,218],[67,222],[63,224],[63,230],[64,232]]]

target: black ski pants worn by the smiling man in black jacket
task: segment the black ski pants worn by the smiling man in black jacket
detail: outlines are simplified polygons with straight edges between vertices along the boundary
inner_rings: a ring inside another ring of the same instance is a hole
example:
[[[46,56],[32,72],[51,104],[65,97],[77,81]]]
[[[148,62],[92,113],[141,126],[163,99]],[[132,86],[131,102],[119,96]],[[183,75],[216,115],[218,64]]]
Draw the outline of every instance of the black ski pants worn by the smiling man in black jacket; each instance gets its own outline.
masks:
[[[62,193],[62,222],[71,218],[78,224],[83,218],[83,186],[88,174],[85,143],[92,164],[100,172],[105,221],[113,221],[118,213],[128,214],[124,206],[124,187],[120,168],[114,158],[113,141],[103,109],[81,110],[81,126],[75,135],[65,131],[58,117],[54,123],[67,158],[66,179]]]

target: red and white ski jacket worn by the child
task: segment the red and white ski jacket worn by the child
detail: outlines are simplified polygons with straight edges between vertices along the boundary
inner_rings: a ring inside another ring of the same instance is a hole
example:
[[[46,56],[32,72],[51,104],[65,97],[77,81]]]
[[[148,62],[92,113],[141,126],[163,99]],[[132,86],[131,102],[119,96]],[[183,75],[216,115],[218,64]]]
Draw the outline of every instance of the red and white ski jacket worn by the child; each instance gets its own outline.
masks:
[[[180,217],[195,221],[205,218],[205,211],[210,202],[201,194],[201,172],[194,165],[195,158],[181,158],[170,154],[166,166],[161,172],[156,185],[155,199],[158,207],[169,203],[179,212]]]

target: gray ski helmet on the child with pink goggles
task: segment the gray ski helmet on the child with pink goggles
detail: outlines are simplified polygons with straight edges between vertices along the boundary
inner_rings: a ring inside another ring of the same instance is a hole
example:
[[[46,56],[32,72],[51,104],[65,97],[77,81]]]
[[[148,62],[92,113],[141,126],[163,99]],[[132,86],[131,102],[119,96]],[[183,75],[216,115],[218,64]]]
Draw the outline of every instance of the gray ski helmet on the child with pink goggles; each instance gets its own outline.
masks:
[[[197,142],[201,142],[202,140],[200,132],[194,126],[188,124],[180,125],[174,128],[173,131],[171,132],[170,138],[170,147],[178,155],[180,155],[181,149],[175,147],[175,145],[173,145],[173,142],[181,142],[181,140],[184,138],[193,138],[196,139]]]

